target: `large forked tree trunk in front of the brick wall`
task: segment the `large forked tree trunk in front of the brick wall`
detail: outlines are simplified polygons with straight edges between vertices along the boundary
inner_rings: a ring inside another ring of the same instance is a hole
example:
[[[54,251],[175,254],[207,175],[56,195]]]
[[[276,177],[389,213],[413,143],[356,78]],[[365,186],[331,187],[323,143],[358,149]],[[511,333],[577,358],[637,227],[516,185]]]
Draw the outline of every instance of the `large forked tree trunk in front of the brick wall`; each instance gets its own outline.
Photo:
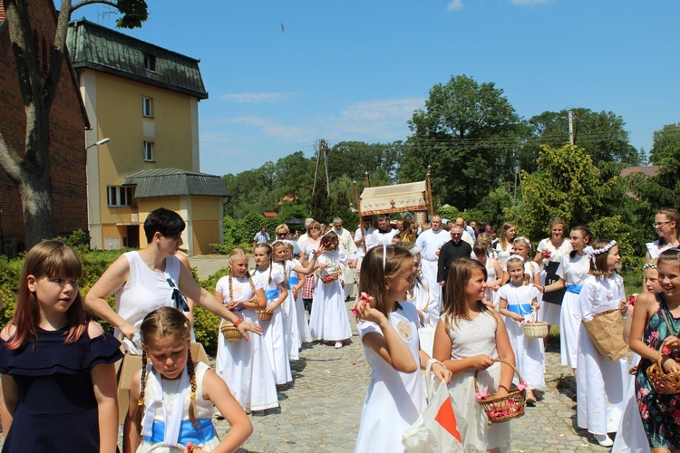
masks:
[[[34,23],[28,3],[3,0],[26,124],[23,149],[15,149],[6,140],[6,125],[0,125],[0,167],[5,169],[19,189],[26,244],[31,247],[42,239],[55,236],[50,179],[50,114],[62,77],[71,14],[84,5],[110,5],[122,14],[117,25],[124,28],[140,27],[148,14],[144,0],[82,0],[74,5],[71,0],[62,0],[49,55],[49,68],[44,76],[36,63],[38,55],[34,54],[37,44],[34,43]]]

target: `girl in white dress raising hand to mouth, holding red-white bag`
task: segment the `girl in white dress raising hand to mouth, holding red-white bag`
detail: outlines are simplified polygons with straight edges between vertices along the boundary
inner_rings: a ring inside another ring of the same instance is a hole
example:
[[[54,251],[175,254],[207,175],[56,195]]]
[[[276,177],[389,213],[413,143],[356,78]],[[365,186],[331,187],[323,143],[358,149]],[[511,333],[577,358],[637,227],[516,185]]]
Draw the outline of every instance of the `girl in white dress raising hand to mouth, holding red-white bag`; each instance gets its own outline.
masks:
[[[371,383],[355,451],[403,451],[403,432],[425,408],[419,369],[430,359],[419,346],[415,306],[398,302],[413,284],[413,258],[401,247],[377,246],[364,256],[361,273],[356,318]],[[451,379],[441,363],[433,363],[432,371],[440,381]]]

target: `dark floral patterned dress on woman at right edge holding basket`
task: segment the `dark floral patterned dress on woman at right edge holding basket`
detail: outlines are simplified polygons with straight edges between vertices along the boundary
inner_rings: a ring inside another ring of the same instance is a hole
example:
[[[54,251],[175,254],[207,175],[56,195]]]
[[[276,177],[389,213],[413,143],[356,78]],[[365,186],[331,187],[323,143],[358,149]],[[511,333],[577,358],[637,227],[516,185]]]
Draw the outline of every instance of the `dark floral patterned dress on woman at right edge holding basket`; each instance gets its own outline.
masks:
[[[658,351],[668,335],[680,332],[680,318],[674,318],[665,304],[663,293],[656,294],[659,310],[647,322],[643,341]],[[666,325],[661,310],[665,310],[672,328]],[[642,425],[651,448],[680,448],[680,395],[658,395],[647,379],[647,368],[652,361],[642,358],[637,367],[636,396]]]

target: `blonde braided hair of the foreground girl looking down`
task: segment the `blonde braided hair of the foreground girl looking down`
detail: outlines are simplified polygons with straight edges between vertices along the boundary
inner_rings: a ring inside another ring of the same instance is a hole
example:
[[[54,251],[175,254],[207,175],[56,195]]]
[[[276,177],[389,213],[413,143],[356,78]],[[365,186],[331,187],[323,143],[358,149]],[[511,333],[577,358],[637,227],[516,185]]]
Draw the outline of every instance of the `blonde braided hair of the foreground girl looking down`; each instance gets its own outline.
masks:
[[[136,423],[138,429],[141,431],[141,420],[144,418],[146,407],[144,405],[144,393],[146,390],[147,380],[147,347],[151,345],[154,340],[164,338],[172,335],[177,340],[189,340],[190,327],[189,320],[179,310],[173,307],[160,307],[144,317],[141,323],[141,342],[144,345],[141,352],[141,376],[140,376],[140,400],[138,401]],[[199,421],[196,419],[196,372],[194,370],[194,362],[191,359],[191,350],[187,350],[187,373],[189,374],[189,381],[191,382],[191,393],[189,405],[189,420],[191,424],[198,429]],[[161,379],[159,377],[159,379]],[[182,404],[184,402],[182,401]]]

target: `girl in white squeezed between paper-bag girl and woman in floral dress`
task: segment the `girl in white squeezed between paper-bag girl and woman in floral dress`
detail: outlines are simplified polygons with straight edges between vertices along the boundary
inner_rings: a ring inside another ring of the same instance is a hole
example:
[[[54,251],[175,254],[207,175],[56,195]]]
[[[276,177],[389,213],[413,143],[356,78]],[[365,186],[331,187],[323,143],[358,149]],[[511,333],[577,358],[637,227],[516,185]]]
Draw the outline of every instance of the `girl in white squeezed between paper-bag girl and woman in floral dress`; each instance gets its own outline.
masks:
[[[644,287],[648,293],[661,293],[663,288],[659,284],[658,269],[656,267],[656,259],[652,260],[643,267],[645,273]],[[626,342],[629,342],[630,325],[633,321],[633,313],[635,313],[635,303],[637,295],[633,294],[628,300],[628,312],[626,313],[626,327],[624,328],[624,337]],[[633,354],[633,361],[631,365],[636,367],[640,361],[640,356]],[[613,453],[649,453],[649,442],[645,428],[642,426],[642,419],[640,418],[640,411],[637,409],[636,398],[636,382],[635,379],[630,379],[628,388],[626,390],[626,407],[621,417],[621,422],[617,429],[617,438],[614,439]]]

